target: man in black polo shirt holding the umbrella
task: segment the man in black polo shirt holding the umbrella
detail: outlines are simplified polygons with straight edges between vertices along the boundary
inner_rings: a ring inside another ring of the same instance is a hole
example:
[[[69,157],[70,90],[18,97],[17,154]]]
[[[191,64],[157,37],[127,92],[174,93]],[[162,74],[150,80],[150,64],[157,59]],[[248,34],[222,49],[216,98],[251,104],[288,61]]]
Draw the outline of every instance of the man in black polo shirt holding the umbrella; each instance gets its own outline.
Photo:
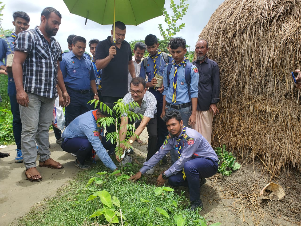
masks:
[[[114,26],[114,25],[113,25]],[[122,99],[128,91],[128,72],[132,78],[136,77],[132,61],[132,50],[129,42],[125,41],[126,25],[120,21],[115,22],[115,39],[113,43],[113,26],[111,36],[101,41],[96,46],[96,67],[102,69],[101,86],[104,103],[111,109],[114,103]],[[107,133],[116,131],[114,124],[107,127]],[[114,155],[116,144],[109,150],[109,155]]]

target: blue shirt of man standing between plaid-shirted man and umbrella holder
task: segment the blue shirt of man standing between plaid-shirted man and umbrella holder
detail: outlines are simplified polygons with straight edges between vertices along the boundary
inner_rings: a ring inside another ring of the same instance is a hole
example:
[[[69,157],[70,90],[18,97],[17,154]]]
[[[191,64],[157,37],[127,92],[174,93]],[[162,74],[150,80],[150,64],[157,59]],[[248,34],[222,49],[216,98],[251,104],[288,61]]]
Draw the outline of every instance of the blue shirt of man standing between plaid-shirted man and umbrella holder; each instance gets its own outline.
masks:
[[[92,63],[82,56],[79,58],[71,51],[60,62],[65,86],[75,90],[90,90],[90,81],[96,78]]]

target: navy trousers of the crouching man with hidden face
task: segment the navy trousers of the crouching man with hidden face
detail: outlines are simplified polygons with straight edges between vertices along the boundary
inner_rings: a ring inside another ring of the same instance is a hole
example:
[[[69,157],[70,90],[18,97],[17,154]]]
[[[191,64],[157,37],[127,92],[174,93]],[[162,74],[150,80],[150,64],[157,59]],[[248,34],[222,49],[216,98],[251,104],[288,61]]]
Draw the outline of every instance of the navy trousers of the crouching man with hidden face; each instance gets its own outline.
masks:
[[[110,140],[106,140],[104,136],[102,137],[101,143],[106,150],[109,150],[112,146]],[[82,165],[85,164],[85,160],[88,157],[92,157],[92,145],[86,137],[64,139],[61,147],[65,152],[76,154],[77,160]]]

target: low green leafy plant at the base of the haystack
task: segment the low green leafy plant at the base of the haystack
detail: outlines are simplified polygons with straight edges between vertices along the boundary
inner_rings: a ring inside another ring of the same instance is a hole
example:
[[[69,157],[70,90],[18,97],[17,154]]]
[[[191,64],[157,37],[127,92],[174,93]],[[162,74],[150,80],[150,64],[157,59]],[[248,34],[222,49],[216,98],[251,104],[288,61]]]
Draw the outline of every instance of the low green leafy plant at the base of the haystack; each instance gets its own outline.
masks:
[[[221,147],[217,147],[215,152],[219,158],[219,169],[218,172],[223,176],[229,176],[232,173],[232,170],[237,170],[240,168],[240,164],[235,162],[236,158],[232,155],[232,152],[226,151],[225,144]]]

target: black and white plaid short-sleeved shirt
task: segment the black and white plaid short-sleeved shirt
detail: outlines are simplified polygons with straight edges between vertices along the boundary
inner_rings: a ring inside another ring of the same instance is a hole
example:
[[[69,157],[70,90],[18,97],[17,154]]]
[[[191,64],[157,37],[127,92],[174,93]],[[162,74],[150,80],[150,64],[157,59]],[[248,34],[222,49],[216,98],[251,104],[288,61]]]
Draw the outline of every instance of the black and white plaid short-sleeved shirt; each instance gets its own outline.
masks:
[[[22,31],[14,44],[15,51],[27,52],[23,63],[23,87],[39,96],[57,97],[57,61],[62,60],[60,44],[50,36],[50,44],[39,27]]]

